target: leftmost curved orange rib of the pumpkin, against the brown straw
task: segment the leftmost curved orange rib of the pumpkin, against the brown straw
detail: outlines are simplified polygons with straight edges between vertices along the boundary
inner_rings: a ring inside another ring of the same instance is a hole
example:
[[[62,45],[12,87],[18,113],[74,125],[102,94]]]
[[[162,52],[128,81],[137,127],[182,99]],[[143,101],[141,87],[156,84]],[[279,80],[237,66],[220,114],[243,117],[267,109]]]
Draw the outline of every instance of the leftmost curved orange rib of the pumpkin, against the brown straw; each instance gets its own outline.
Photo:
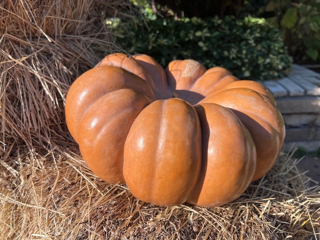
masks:
[[[144,80],[117,66],[95,67],[76,79],[65,102],[66,124],[76,142],[87,109],[103,95],[122,88],[134,89],[155,100],[153,91]]]

